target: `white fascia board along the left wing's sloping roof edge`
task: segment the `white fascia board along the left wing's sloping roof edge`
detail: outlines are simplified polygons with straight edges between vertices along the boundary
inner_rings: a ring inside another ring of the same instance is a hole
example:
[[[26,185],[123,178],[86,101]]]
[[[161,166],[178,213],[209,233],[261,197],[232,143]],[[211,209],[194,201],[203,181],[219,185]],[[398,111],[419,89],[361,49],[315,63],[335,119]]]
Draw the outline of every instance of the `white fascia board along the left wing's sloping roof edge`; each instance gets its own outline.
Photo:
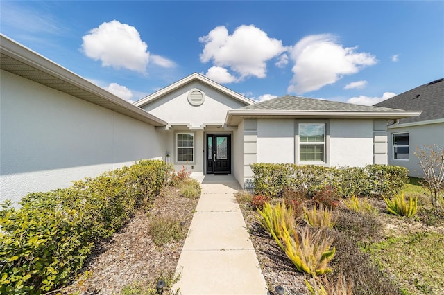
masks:
[[[167,125],[167,122],[149,114],[144,109],[140,109],[139,107],[135,107],[135,105],[127,102],[115,96],[114,94],[106,91],[105,89],[85,80],[85,78],[80,77],[76,73],[69,71],[68,69],[52,62],[46,57],[32,51],[29,48],[26,48],[22,44],[19,44],[12,39],[6,37],[3,34],[0,34],[0,53],[1,55],[7,55],[14,60],[22,62],[27,66],[31,66],[37,71],[41,71],[42,73],[46,73],[47,75],[51,75],[58,80],[62,80],[67,84],[70,84],[78,89],[91,93],[92,95],[100,98],[101,100],[105,100],[106,102],[112,102],[112,104],[117,106],[116,109],[112,109],[113,111],[117,111],[120,114],[124,114],[128,116],[128,111],[133,114],[137,114],[135,118],[138,120],[142,120],[146,123],[150,123],[154,126]],[[81,99],[81,98],[80,98]],[[103,106],[102,106],[103,107]],[[121,109],[121,111],[119,111]],[[126,110],[126,111],[123,111]],[[142,118],[141,118],[142,117]]]

